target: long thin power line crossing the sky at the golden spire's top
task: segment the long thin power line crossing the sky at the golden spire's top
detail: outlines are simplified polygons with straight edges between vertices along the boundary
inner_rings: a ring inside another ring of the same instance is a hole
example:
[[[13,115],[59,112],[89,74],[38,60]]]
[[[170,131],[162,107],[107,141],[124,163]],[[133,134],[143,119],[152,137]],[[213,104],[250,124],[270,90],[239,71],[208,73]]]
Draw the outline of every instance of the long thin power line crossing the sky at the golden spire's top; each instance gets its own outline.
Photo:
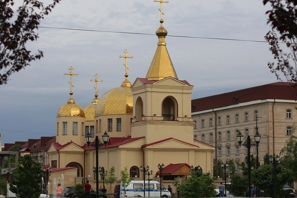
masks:
[[[60,30],[75,30],[75,31],[87,31],[87,32],[107,32],[107,33],[118,33],[118,34],[153,35],[153,36],[155,36],[155,34],[138,33],[138,32],[118,32],[118,31],[75,29],[75,28],[54,28],[54,27],[45,27],[45,26],[38,26],[38,28],[60,29]],[[224,40],[224,41],[246,41],[246,42],[268,43],[267,41],[247,40],[247,39],[232,39],[232,38],[216,38],[216,37],[191,37],[191,36],[178,36],[178,35],[167,35],[167,37],[198,38],[198,39],[212,39],[212,40]],[[279,42],[279,43],[284,43],[284,42]]]

